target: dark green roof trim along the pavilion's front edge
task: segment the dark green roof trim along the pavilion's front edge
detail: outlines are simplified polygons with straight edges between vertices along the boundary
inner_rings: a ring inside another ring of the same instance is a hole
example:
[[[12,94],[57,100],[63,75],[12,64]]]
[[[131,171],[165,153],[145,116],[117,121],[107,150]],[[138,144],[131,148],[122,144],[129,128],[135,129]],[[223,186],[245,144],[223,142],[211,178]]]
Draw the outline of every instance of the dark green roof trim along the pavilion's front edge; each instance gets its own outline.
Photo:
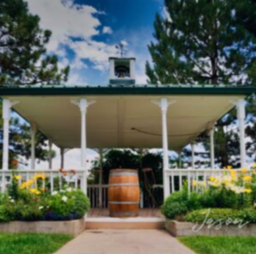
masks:
[[[110,87],[110,86],[87,86],[87,87],[0,87],[0,96],[24,96],[24,95],[251,95],[256,93],[254,86],[131,86],[131,87]]]

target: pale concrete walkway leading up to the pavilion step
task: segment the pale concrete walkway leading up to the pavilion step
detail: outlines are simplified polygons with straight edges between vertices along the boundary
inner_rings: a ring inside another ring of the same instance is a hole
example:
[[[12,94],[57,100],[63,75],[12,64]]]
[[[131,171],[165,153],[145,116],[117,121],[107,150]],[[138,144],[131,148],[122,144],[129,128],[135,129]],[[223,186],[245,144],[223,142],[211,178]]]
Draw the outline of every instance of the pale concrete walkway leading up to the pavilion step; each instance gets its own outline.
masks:
[[[87,230],[56,254],[195,254],[163,230]]]

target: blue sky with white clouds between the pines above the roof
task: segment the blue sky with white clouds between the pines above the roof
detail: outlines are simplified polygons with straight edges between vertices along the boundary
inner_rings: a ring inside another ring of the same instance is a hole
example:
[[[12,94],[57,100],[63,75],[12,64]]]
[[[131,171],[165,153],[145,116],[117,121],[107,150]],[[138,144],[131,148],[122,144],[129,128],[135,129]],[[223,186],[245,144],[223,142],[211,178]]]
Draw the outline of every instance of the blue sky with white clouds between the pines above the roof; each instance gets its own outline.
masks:
[[[147,45],[153,39],[155,14],[163,0],[27,0],[43,29],[53,32],[47,46],[60,67],[69,64],[69,83],[108,83],[108,57],[126,41],[127,56],[137,58],[137,83],[146,83]]]

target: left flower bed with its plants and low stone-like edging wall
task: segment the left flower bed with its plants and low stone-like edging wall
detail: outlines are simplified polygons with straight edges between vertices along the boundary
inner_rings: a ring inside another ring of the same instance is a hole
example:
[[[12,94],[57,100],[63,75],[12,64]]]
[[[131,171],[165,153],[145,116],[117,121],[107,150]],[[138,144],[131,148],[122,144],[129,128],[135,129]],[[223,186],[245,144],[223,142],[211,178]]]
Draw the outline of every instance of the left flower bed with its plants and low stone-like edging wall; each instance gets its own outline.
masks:
[[[78,228],[84,227],[83,217],[89,210],[90,204],[88,197],[81,192],[81,190],[73,189],[72,187],[63,186],[63,189],[58,190],[56,187],[53,193],[47,188],[47,184],[44,175],[36,175],[33,179],[20,183],[20,176],[13,175],[12,183],[8,186],[6,193],[1,194],[0,197],[0,231],[5,231],[6,228],[11,225],[16,229],[6,229],[9,232],[46,232],[47,228],[49,232],[65,232],[62,225],[70,225],[71,235],[76,235],[77,231],[81,231]],[[71,221],[74,223],[53,223],[46,221]],[[5,222],[15,221],[15,223],[7,224]],[[23,222],[35,222],[44,221],[43,223],[27,224],[19,223]],[[44,224],[44,226],[43,226]],[[72,225],[71,225],[72,224]],[[33,227],[32,227],[33,225]],[[77,225],[77,226],[75,226]],[[76,227],[77,229],[74,229]],[[20,228],[20,229],[18,229]],[[25,228],[27,228],[25,230]],[[32,229],[34,228],[34,229]],[[40,231],[41,228],[41,231]],[[44,229],[43,229],[44,228]],[[55,230],[55,229],[56,230]],[[60,230],[57,230],[59,228]],[[55,231],[54,231],[55,230]]]

